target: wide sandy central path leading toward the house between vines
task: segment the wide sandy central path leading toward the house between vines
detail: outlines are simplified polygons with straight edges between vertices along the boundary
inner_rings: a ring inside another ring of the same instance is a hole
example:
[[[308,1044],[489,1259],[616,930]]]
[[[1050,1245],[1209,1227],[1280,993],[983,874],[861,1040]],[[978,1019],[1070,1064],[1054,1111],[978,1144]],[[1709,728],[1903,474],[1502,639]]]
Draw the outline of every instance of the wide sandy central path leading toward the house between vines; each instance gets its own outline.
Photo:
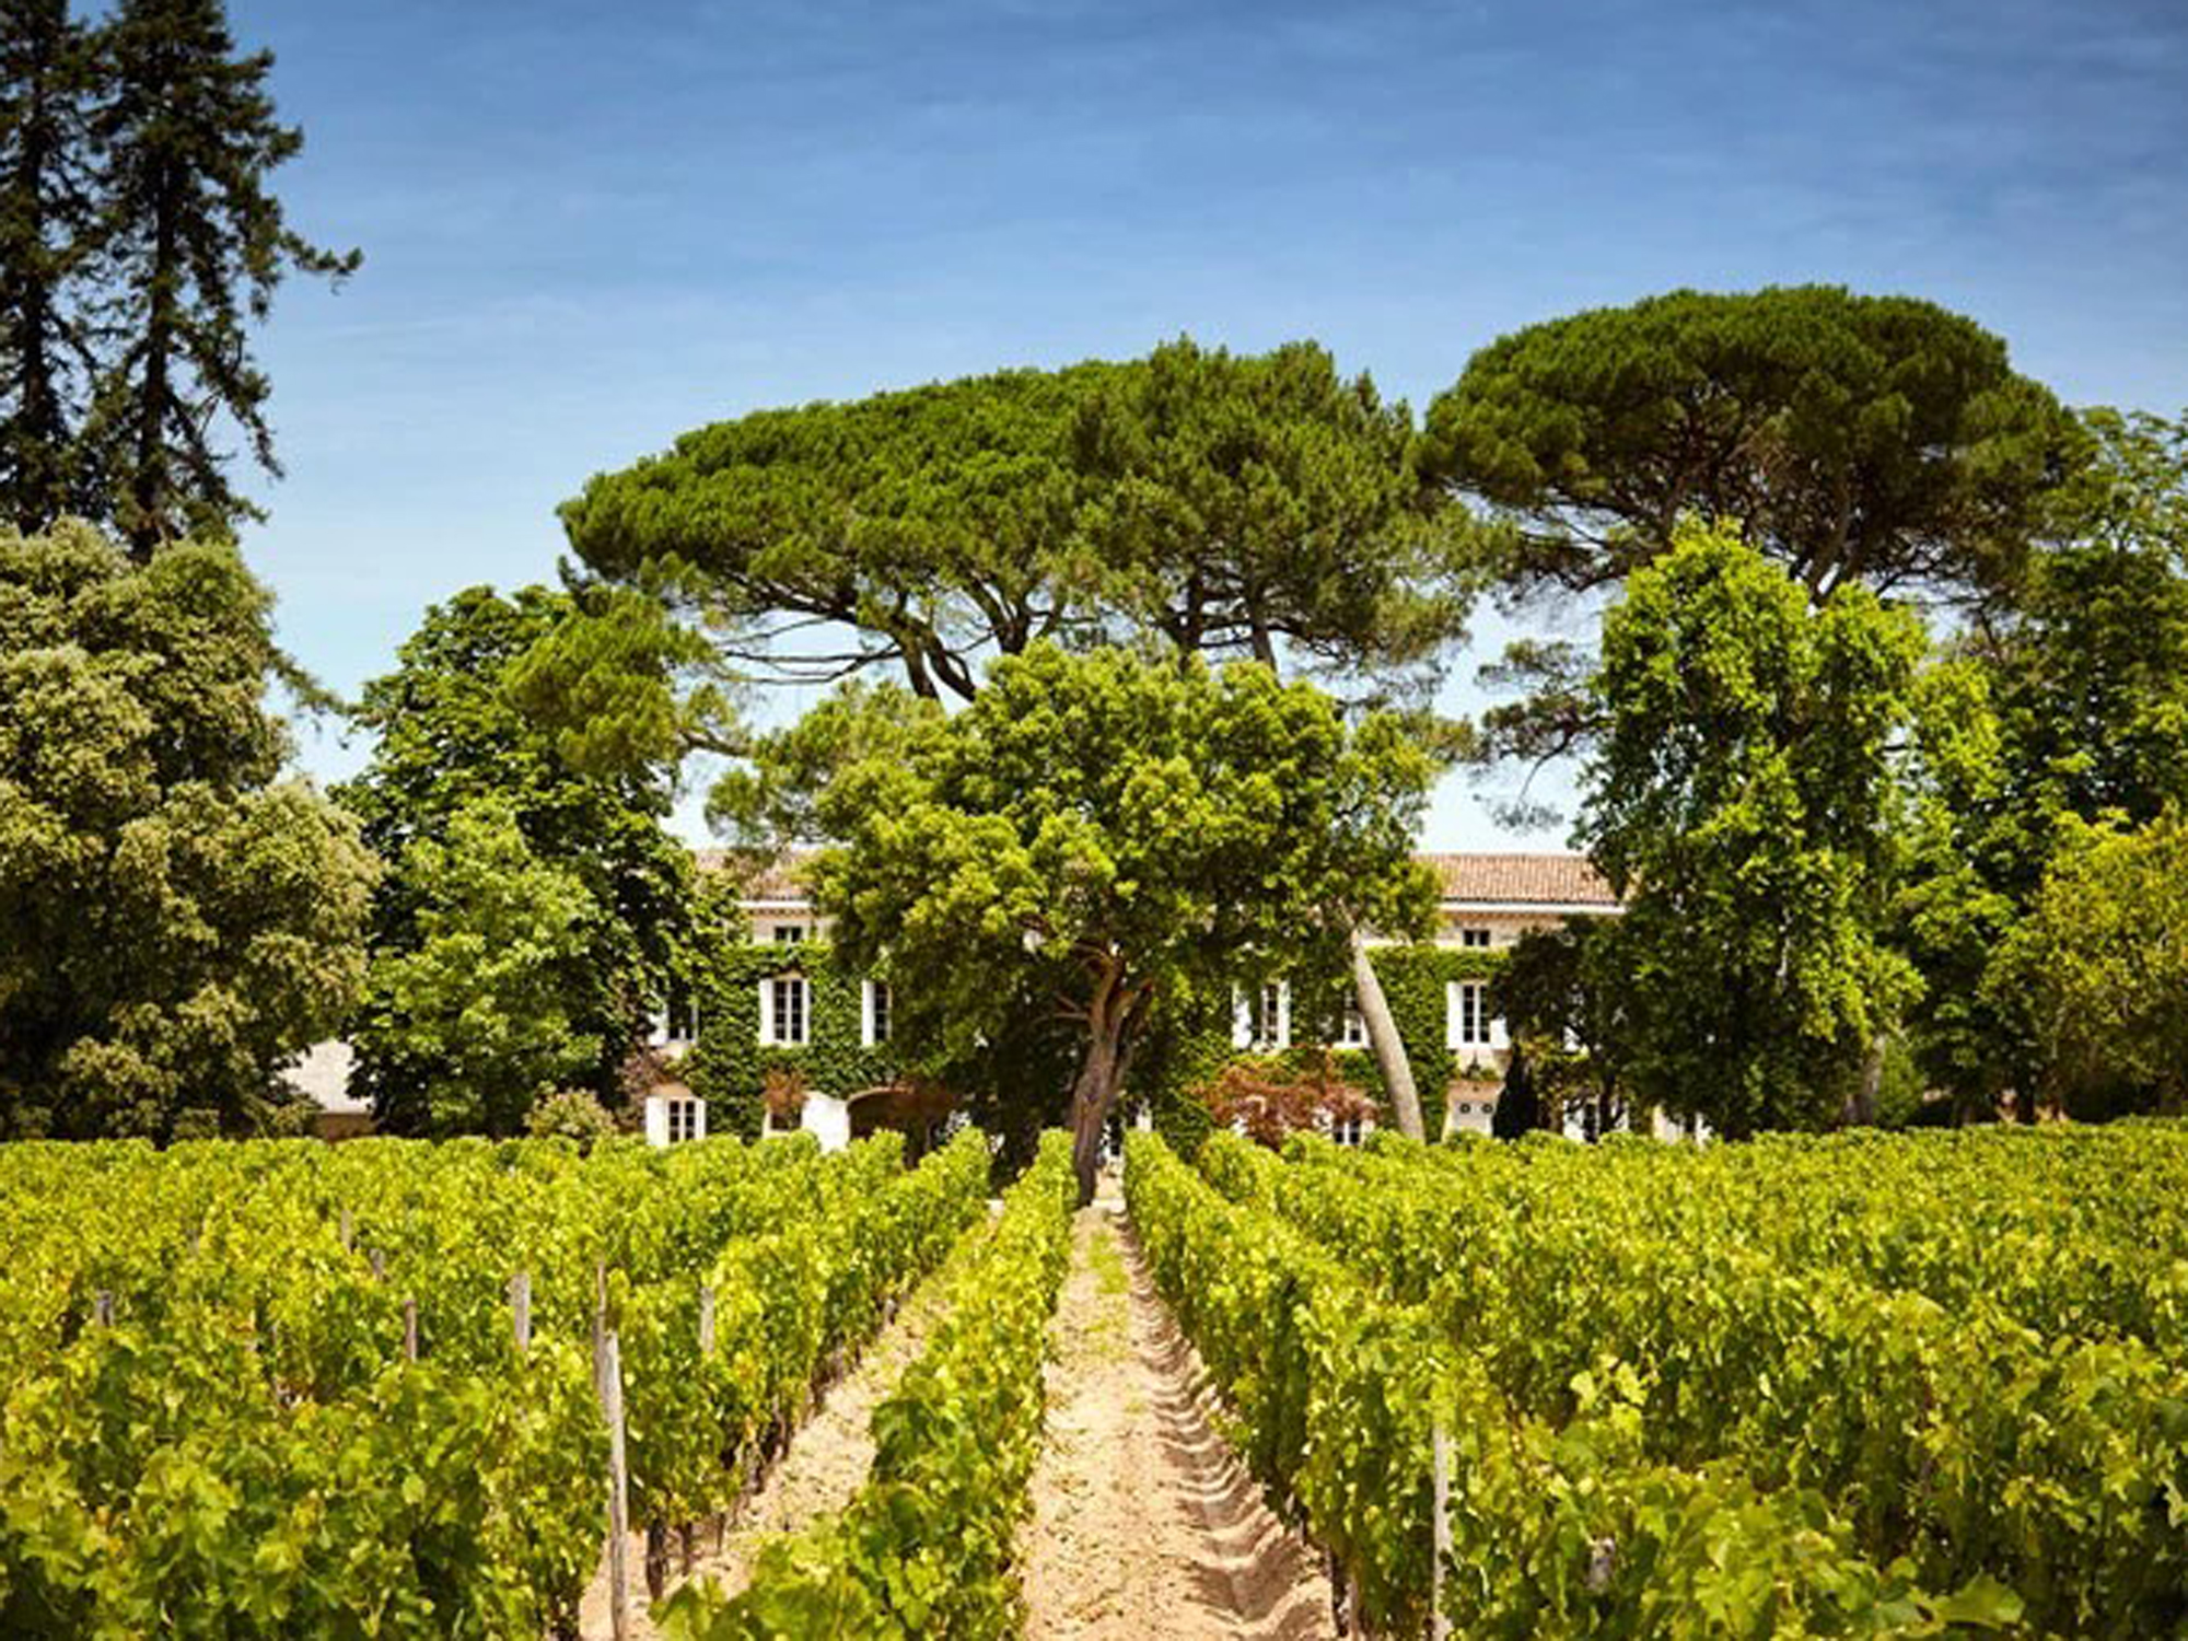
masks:
[[[1199,1354],[1116,1199],[1072,1227],[1050,1339],[1048,1433],[1020,1538],[1026,1634],[1335,1637],[1322,1560],[1210,1424]]]

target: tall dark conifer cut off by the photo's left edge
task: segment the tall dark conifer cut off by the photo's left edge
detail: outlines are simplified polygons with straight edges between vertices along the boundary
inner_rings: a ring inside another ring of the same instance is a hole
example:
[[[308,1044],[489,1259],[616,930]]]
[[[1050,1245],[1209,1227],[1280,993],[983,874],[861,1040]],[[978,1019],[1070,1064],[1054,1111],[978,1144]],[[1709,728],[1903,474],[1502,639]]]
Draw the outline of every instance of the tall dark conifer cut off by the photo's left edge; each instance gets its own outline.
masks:
[[[0,0],[0,516],[24,532],[88,505],[94,68],[68,0]]]

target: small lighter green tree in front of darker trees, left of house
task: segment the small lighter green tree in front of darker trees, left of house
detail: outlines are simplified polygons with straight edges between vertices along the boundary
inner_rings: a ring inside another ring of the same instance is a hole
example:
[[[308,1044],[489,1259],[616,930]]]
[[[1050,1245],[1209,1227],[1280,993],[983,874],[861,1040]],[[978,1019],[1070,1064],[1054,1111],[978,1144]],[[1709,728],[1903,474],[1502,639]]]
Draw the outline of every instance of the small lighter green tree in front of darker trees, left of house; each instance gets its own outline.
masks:
[[[492,799],[449,816],[446,840],[414,840],[394,886],[411,941],[374,954],[352,1028],[374,1114],[398,1133],[521,1133],[602,1059],[571,1006],[586,998],[593,897]]]

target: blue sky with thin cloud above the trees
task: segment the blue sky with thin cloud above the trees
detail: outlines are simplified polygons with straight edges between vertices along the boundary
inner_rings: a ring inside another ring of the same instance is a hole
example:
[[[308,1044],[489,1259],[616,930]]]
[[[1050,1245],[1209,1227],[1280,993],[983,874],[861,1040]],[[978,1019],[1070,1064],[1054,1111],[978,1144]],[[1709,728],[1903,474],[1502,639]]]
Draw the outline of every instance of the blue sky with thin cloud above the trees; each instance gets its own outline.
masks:
[[[306,133],[293,225],[365,252],[260,339],[289,477],[245,536],[344,691],[427,604],[551,580],[554,505],[687,427],[1179,333],[1317,337],[1422,409],[1534,319],[1829,280],[1974,315],[2072,403],[2188,405],[2181,0],[232,20]],[[1427,842],[1540,838],[1453,781]]]

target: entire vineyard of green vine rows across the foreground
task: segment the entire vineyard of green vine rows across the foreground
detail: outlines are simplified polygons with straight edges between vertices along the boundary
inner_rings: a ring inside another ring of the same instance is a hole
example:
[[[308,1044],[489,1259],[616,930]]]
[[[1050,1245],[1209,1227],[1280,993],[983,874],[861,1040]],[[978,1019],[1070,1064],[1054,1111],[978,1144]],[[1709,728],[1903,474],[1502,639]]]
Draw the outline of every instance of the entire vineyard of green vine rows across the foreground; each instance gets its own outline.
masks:
[[[0,1632],[575,1637],[610,1494],[678,1641],[2188,1626],[2177,1125],[987,1190],[976,1133],[0,1149]],[[915,1300],[856,1483],[685,1578]]]

